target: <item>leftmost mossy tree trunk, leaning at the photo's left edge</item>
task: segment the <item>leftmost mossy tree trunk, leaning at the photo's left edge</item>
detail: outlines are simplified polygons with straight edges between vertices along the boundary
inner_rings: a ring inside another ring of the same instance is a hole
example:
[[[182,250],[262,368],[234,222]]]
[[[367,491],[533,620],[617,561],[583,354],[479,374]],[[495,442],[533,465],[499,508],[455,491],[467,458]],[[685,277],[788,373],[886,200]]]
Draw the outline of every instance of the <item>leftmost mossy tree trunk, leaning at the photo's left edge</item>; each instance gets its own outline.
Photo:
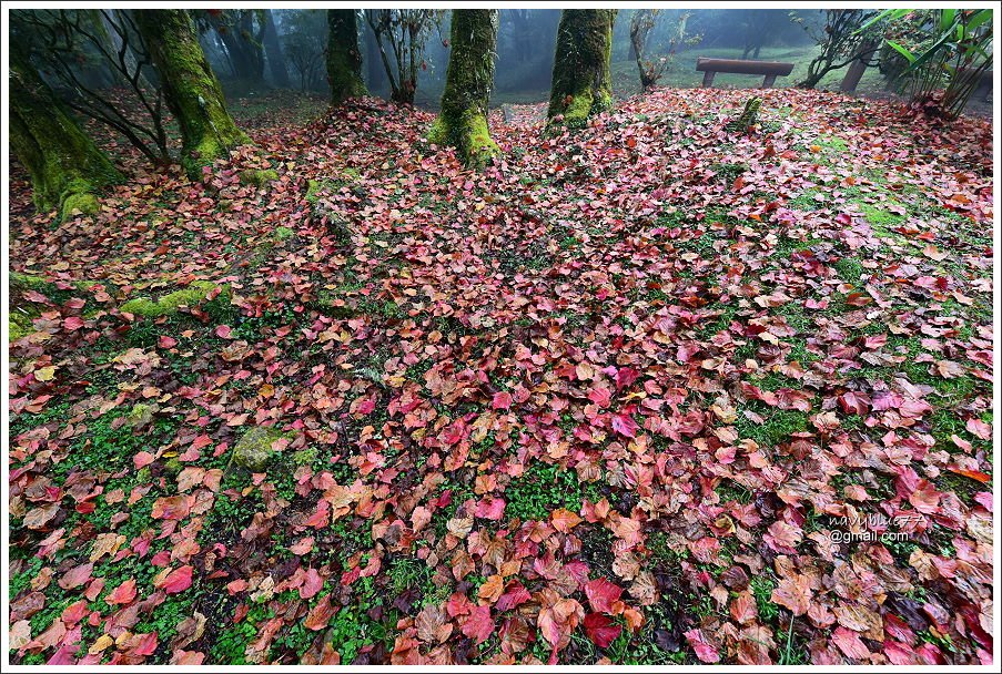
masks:
[[[42,81],[19,49],[10,51],[10,145],[31,175],[39,211],[95,213],[101,187],[121,174]]]

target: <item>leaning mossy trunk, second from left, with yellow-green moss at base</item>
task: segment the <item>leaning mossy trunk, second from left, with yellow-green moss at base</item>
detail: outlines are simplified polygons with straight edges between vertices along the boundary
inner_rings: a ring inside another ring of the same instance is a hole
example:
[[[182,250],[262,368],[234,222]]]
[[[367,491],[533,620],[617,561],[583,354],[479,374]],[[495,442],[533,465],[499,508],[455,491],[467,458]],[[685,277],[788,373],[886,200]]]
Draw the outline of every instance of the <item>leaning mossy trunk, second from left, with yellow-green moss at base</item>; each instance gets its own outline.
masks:
[[[135,23],[163,82],[171,112],[181,126],[181,165],[192,180],[202,166],[250,142],[226,111],[194,23],[185,10],[135,10]]]

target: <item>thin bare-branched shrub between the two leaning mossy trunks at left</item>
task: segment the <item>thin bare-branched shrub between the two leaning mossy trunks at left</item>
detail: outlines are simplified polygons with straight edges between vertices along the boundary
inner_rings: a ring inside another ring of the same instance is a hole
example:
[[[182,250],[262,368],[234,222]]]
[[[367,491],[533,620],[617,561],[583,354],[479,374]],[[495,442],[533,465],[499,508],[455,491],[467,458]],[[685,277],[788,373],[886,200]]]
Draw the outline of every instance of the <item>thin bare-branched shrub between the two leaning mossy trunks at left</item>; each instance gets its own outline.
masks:
[[[73,111],[114,129],[151,162],[171,162],[163,91],[129,10],[13,10],[11,35]],[[79,68],[88,59],[125,95],[91,83]]]

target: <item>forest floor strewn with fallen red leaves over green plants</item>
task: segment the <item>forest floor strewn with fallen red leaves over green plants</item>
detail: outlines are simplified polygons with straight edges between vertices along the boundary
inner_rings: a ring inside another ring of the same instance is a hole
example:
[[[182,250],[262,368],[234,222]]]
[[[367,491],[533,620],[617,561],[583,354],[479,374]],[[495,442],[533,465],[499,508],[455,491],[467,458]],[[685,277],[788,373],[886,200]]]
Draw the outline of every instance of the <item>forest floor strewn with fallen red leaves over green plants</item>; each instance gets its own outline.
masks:
[[[12,662],[990,662],[991,127],[750,93],[14,167]]]

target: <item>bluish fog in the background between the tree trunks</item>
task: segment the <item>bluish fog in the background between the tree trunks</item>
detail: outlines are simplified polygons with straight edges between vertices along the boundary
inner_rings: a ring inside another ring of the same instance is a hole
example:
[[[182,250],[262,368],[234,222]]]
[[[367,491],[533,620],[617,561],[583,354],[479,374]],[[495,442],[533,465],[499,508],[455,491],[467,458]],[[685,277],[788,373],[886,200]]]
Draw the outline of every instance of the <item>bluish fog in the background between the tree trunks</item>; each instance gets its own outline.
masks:
[[[631,16],[637,10],[621,10],[613,33],[613,61],[617,73],[636,80],[636,55],[630,44]],[[274,86],[291,86],[304,91],[325,93],[327,90],[324,64],[326,45],[325,10],[271,10],[281,45],[281,55],[289,73],[287,84],[276,80],[270,67],[272,51],[265,45],[265,61],[262,81],[246,81],[233,63],[232,49],[227,47],[219,30],[211,27],[202,32],[203,47],[224,86],[234,93]],[[442,12],[425,34],[421,57],[415,104],[435,109],[445,83],[448,62],[448,33],[451,12]],[[692,70],[696,57],[708,50],[712,55],[733,58],[763,58],[762,51],[781,48],[807,48],[812,39],[806,28],[817,25],[822,12],[800,10],[794,17],[788,10],[740,10],[740,9],[696,9],[662,10],[647,39],[646,57],[672,61],[672,69]],[[679,22],[685,19],[684,40],[678,42]],[[554,44],[560,11],[556,9],[503,9],[499,11],[497,37],[497,65],[494,85],[496,104],[503,102],[537,102],[548,95],[553,70]],[[232,40],[231,40],[232,42]],[[677,43],[678,42],[678,43]],[[368,90],[379,96],[389,98],[389,84],[384,69],[378,42],[374,31],[365,20],[360,20],[360,49],[363,73]],[[385,47],[391,63],[393,53]],[[727,53],[730,52],[730,53]],[[670,73],[669,73],[670,75]],[[672,81],[666,76],[661,85],[691,85],[691,78]],[[617,82],[621,93],[634,93],[629,81]]]

